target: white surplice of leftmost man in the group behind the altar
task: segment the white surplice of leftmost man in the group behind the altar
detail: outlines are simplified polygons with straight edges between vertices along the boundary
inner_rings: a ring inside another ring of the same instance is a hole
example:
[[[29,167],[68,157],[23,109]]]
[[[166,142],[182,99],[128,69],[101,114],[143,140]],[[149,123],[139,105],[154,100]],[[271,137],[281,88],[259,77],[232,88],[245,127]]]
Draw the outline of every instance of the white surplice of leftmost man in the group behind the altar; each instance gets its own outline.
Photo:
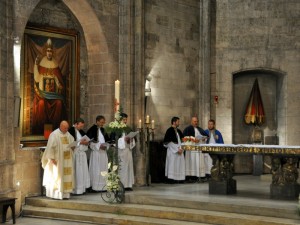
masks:
[[[169,142],[166,147],[167,159],[166,159],[166,171],[165,175],[169,179],[184,180],[185,179],[185,161],[183,153],[178,154],[178,149],[181,146],[181,141],[178,133],[176,132],[178,144]]]

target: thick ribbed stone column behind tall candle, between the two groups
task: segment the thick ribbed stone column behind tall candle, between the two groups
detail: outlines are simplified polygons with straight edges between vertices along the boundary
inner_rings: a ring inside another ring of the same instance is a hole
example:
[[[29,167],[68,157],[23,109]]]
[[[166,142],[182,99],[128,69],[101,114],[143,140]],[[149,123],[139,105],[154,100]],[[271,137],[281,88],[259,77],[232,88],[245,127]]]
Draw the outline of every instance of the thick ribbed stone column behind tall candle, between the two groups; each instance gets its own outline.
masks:
[[[120,1],[119,8],[119,66],[121,107],[129,115],[129,124],[135,130],[138,120],[144,118],[144,1]],[[133,152],[135,184],[145,185],[145,151],[143,137],[138,137]]]

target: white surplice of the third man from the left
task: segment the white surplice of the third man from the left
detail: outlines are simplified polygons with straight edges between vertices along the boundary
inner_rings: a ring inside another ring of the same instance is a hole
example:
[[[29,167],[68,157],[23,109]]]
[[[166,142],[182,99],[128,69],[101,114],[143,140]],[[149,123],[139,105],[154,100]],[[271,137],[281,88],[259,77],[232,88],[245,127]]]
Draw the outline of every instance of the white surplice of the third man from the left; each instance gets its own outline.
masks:
[[[108,158],[106,150],[100,149],[101,144],[105,143],[104,136],[98,128],[98,142],[91,143],[90,148],[92,149],[90,155],[90,179],[91,179],[91,187],[94,191],[106,190],[106,180],[105,177],[101,176],[102,171],[108,171]]]

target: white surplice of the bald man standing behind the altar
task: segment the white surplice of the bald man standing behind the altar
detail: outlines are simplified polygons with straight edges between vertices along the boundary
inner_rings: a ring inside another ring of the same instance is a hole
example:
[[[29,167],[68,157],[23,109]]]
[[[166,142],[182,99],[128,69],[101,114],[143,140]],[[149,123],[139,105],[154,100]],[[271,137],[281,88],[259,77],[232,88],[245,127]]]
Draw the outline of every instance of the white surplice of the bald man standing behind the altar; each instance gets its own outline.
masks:
[[[201,135],[197,128],[195,129],[195,137]],[[185,152],[185,175],[205,177],[205,154],[201,151],[186,151]]]

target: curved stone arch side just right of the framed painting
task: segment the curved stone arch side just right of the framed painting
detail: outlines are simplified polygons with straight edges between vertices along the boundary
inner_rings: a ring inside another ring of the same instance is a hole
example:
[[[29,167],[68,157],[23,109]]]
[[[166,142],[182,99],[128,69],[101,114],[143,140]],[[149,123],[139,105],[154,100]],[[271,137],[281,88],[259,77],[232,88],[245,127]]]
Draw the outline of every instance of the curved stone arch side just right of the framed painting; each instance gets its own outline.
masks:
[[[65,5],[70,9],[73,15],[78,19],[82,29],[87,46],[88,55],[88,76],[90,86],[100,86],[103,83],[103,79],[99,79],[100,76],[106,78],[105,83],[113,85],[113,76],[108,75],[111,73],[105,68],[113,68],[112,54],[110,54],[108,43],[105,37],[105,32],[102,28],[101,21],[99,21],[93,8],[87,0],[62,0]],[[105,68],[104,68],[105,67]],[[105,74],[106,73],[106,74]],[[103,88],[104,89],[104,88]],[[106,90],[109,90],[106,88]],[[111,93],[103,93],[110,95]],[[94,122],[96,115],[99,111],[104,115],[113,115],[113,97],[108,97],[109,105],[112,107],[101,107],[98,105],[97,94],[90,93],[90,104],[86,110],[86,117],[88,118],[88,124]],[[93,102],[92,100],[95,100]]]

